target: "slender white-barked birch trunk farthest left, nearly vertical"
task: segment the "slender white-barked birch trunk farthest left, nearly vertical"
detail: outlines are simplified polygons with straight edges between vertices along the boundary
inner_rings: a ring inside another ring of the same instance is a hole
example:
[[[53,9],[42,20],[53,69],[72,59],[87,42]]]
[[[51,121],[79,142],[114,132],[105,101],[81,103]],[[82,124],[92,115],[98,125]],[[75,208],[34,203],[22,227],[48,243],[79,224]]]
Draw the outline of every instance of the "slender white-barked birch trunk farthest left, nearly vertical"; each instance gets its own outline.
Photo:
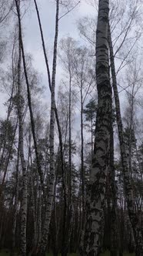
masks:
[[[19,6],[18,6],[19,8]],[[27,223],[27,169],[24,153],[24,134],[23,134],[23,97],[21,83],[21,45],[19,39],[19,56],[18,56],[18,122],[19,122],[19,153],[22,163],[22,204],[21,204],[21,256],[26,256],[26,223]]]

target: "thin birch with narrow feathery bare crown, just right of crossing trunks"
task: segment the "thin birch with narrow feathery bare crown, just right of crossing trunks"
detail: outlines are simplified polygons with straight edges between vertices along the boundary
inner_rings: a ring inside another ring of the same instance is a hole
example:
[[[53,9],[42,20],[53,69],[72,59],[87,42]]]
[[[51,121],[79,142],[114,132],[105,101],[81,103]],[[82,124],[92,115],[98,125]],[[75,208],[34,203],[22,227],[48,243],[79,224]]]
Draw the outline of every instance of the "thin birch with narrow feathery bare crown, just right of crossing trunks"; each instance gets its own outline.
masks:
[[[71,38],[62,39],[60,42],[60,59],[62,66],[65,69],[66,76],[68,75],[68,197],[66,206],[66,227],[63,225],[63,237],[62,237],[62,254],[63,256],[68,252],[68,241],[70,240],[70,227],[72,221],[72,188],[71,188],[71,98],[72,98],[72,83],[74,69],[74,58],[75,58],[75,41]],[[66,82],[63,82],[66,85]],[[63,219],[64,221],[64,219]],[[67,234],[67,235],[65,235]],[[67,239],[68,238],[68,239]]]

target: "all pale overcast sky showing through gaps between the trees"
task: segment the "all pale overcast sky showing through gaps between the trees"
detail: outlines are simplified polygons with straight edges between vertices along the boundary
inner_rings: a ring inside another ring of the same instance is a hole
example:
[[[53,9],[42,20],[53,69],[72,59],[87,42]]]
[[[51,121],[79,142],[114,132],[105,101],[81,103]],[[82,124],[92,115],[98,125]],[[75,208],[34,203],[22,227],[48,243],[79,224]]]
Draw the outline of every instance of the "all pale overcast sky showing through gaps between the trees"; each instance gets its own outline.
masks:
[[[44,100],[45,102],[49,102],[50,93],[48,90],[48,79],[47,79],[47,72],[45,68],[45,60],[43,57],[42,51],[42,42],[40,37],[40,32],[38,29],[38,19],[35,12],[35,5],[33,4],[34,1],[31,0],[30,8],[28,8],[28,12],[22,19],[22,29],[24,31],[24,46],[25,52],[28,52],[32,55],[33,58],[33,66],[35,69],[38,70],[42,74],[42,85],[46,86]],[[78,2],[78,0],[75,0]],[[48,60],[49,63],[52,64],[52,52],[53,52],[53,41],[55,35],[55,0],[37,0],[38,9],[41,16],[42,21],[42,29],[45,36],[45,45],[48,52]],[[61,8],[60,16],[64,15],[66,12],[65,9]],[[89,16],[94,17],[95,8],[88,4],[87,0],[81,0],[80,4],[72,10],[72,12],[65,15],[63,19],[59,22],[59,35],[58,35],[58,42],[64,36],[71,36],[78,41],[82,41],[83,39],[80,38],[77,29],[77,21],[78,19]],[[52,65],[51,65],[52,66]],[[57,76],[56,76],[56,88],[58,89],[59,81],[62,77],[62,67],[60,65],[57,66]],[[120,91],[121,89],[119,89]],[[121,106],[125,102],[125,92],[123,91],[120,93],[121,99]],[[5,103],[5,95],[1,94],[0,97],[0,108],[1,108],[1,116],[5,116],[5,107],[3,106]],[[141,109],[139,110],[140,113]],[[79,130],[79,111],[77,111],[77,118],[75,124],[75,130]],[[79,136],[78,136],[79,139]]]

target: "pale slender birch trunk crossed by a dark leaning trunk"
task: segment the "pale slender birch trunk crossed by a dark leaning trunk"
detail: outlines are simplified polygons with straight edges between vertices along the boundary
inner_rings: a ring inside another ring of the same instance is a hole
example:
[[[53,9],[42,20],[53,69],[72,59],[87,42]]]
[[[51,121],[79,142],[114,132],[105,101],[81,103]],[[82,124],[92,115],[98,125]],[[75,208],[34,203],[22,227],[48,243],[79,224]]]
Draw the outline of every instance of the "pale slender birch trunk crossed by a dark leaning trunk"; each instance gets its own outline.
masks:
[[[56,17],[55,17],[55,42],[53,54],[53,67],[52,67],[52,87],[51,87],[51,116],[50,116],[50,176],[49,176],[49,189],[48,201],[45,211],[45,223],[42,234],[42,244],[39,255],[44,256],[46,246],[48,243],[49,225],[52,215],[52,203],[55,190],[55,153],[54,153],[54,132],[55,132],[55,75],[56,75],[56,62],[57,62],[57,45],[58,45],[58,14],[59,14],[59,0],[56,1]]]

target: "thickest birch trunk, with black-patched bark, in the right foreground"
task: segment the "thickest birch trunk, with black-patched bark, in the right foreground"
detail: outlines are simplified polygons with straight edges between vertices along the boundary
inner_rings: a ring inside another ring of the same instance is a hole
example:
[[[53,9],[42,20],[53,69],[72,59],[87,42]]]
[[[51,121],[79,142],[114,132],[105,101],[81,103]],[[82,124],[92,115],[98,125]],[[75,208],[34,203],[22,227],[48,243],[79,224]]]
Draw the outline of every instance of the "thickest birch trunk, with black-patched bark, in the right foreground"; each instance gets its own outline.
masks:
[[[98,111],[95,128],[95,148],[89,177],[85,227],[86,256],[97,256],[102,242],[105,188],[109,167],[111,128],[111,85],[108,64],[108,0],[99,0],[96,32],[96,81]]]

